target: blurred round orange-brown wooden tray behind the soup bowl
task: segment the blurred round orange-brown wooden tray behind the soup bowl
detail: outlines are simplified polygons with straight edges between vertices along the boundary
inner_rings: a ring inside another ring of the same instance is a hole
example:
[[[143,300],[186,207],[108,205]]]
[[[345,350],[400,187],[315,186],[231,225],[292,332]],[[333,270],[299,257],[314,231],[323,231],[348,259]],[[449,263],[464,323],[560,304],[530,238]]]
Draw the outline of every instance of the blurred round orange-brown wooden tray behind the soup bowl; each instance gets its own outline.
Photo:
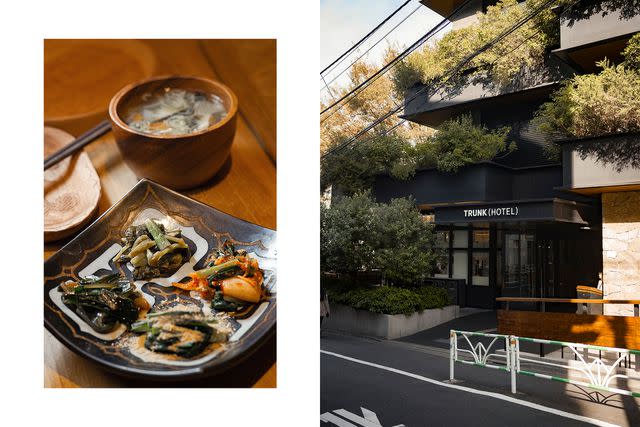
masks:
[[[155,68],[153,50],[141,41],[45,40],[45,125],[82,134],[107,118],[116,92]]]

